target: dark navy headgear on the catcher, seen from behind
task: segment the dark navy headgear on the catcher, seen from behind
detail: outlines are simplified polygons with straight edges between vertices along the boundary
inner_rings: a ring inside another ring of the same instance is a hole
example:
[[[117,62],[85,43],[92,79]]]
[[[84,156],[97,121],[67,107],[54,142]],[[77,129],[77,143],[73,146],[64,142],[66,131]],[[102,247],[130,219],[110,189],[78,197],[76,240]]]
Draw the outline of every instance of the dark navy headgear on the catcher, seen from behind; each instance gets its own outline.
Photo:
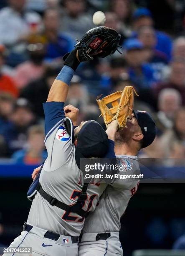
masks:
[[[96,121],[87,121],[79,131],[75,151],[76,164],[80,169],[80,159],[103,158],[108,151],[108,136],[102,126]]]

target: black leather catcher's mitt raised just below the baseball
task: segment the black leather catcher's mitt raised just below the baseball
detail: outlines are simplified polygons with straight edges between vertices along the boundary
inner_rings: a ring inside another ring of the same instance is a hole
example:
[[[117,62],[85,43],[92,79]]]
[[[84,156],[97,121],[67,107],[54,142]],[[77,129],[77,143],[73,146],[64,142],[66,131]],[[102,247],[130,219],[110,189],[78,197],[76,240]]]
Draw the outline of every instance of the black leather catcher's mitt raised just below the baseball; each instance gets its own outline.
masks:
[[[119,46],[121,35],[108,27],[97,27],[87,31],[81,38],[76,49],[79,50],[79,61],[92,60],[94,57],[104,58],[114,54]]]

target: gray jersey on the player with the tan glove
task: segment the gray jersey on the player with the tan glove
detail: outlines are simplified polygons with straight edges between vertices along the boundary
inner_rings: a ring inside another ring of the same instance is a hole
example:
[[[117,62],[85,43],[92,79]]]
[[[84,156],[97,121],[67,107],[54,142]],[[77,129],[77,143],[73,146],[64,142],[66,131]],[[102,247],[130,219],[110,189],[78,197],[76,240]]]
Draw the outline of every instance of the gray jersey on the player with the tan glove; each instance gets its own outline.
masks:
[[[137,156],[117,156],[117,159],[132,168],[119,171],[120,175],[140,174]],[[130,170],[129,170],[130,169]],[[82,233],[119,232],[120,218],[124,214],[130,198],[137,191],[136,179],[117,179],[106,187],[96,210],[86,218]]]

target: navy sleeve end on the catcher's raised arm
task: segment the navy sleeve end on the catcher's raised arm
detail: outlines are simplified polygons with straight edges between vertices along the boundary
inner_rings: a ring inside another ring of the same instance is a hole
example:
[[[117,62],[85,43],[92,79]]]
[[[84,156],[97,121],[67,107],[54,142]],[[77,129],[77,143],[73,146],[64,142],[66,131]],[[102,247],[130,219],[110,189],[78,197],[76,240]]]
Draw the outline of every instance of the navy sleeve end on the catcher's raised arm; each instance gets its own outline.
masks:
[[[64,102],[46,102],[43,103],[45,115],[45,133],[47,134],[51,129],[61,120],[65,118],[63,110]]]

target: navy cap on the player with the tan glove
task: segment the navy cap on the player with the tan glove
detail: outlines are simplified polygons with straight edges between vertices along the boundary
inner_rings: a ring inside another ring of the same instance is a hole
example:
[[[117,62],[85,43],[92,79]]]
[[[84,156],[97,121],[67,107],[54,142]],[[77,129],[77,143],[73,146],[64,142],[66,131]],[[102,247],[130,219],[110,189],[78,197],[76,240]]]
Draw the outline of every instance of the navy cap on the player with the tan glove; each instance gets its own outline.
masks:
[[[143,134],[142,148],[149,146],[155,139],[156,136],[156,126],[153,118],[146,111],[134,111],[134,116],[141,128]]]

